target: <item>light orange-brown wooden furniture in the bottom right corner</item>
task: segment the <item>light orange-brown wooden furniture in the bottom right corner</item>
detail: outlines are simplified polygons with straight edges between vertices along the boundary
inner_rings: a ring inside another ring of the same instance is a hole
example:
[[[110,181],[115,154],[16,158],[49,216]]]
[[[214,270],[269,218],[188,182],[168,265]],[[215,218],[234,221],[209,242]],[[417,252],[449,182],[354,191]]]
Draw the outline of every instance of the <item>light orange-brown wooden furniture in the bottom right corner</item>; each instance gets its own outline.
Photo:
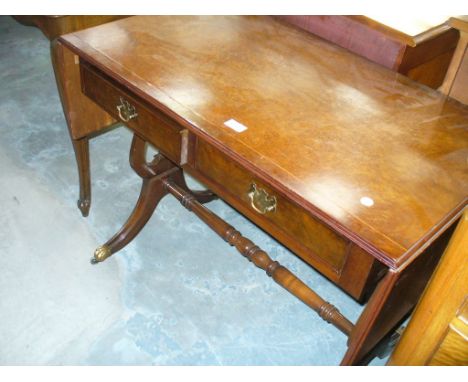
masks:
[[[389,365],[468,365],[468,210]]]

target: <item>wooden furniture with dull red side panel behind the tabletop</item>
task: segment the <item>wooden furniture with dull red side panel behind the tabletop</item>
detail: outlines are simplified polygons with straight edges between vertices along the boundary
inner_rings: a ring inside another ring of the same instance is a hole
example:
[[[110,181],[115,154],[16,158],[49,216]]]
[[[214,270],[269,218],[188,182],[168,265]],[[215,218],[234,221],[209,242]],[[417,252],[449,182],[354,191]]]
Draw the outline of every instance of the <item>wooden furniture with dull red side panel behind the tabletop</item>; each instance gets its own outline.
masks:
[[[448,16],[277,16],[420,83],[437,88],[458,40]]]

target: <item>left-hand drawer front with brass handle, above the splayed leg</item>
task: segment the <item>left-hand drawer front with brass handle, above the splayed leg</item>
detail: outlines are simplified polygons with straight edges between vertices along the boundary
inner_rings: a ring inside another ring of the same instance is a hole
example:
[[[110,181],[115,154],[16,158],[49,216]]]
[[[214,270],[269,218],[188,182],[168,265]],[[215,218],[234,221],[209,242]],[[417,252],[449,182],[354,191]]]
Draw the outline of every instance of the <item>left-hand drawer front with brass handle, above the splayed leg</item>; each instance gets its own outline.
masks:
[[[147,106],[137,96],[122,89],[92,66],[82,63],[83,93],[110,115],[142,136],[165,156],[179,164],[182,129],[159,110]]]

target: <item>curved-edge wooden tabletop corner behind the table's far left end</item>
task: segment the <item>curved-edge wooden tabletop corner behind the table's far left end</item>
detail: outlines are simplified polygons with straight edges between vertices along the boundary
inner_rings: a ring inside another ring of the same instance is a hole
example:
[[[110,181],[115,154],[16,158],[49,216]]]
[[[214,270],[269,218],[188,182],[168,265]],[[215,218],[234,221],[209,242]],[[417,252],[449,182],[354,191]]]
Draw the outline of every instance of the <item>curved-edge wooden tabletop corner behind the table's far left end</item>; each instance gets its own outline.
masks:
[[[24,25],[36,26],[49,39],[54,40],[57,37],[91,28],[111,21],[115,21],[128,16],[109,16],[109,15],[21,15],[13,16],[16,21]]]

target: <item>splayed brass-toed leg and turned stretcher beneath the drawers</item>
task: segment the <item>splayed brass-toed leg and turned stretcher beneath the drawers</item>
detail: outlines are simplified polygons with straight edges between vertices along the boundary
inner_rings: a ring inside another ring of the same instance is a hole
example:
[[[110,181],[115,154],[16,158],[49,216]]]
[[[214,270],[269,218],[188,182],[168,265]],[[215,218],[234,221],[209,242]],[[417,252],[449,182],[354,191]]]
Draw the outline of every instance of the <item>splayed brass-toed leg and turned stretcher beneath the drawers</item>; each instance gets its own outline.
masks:
[[[145,157],[146,142],[134,135],[130,149],[130,164],[143,179],[140,197],[120,231],[95,251],[91,260],[93,264],[104,261],[128,244],[144,227],[159,201],[165,195],[171,194],[243,256],[266,271],[275,282],[316,311],[323,320],[333,324],[346,335],[352,332],[354,325],[335,306],[322,299],[291,271],[277,261],[273,261],[251,240],[204,207],[197,197],[188,191],[181,168],[161,154],[157,154],[150,163],[146,162]],[[202,195],[203,200],[211,200],[211,195],[207,199],[206,193]]]

